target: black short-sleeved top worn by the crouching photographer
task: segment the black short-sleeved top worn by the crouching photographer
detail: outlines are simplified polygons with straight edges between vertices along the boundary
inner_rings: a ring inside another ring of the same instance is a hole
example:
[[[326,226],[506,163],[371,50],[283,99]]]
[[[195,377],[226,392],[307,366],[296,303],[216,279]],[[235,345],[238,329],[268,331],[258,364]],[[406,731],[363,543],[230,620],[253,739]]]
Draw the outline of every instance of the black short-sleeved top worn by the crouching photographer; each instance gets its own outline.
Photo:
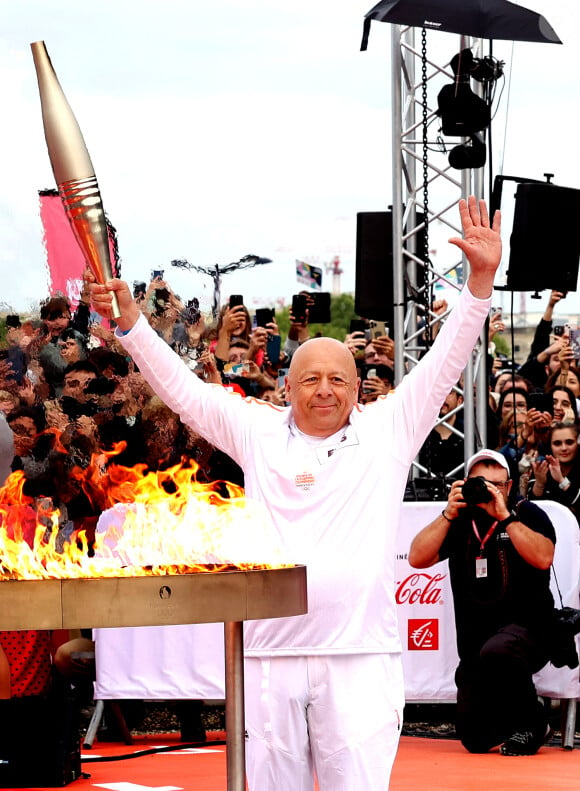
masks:
[[[534,503],[522,500],[517,519],[526,527],[556,543],[556,533],[547,514]],[[495,520],[481,508],[465,508],[450,525],[439,557],[449,559],[455,606],[457,650],[462,661],[479,654],[481,646],[506,624],[519,624],[539,640],[547,639],[554,600],[550,592],[550,569],[537,569],[514,548],[504,523],[500,522],[485,543]],[[483,554],[487,576],[476,577],[476,558]]]

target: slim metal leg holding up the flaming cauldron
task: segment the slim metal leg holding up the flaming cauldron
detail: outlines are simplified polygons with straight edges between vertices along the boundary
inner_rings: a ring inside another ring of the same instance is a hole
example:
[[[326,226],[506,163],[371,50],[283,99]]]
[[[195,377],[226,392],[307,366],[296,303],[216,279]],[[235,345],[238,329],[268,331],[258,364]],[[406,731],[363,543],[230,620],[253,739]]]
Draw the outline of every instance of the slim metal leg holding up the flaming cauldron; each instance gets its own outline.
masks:
[[[244,624],[224,623],[226,669],[227,791],[246,788],[244,717]]]

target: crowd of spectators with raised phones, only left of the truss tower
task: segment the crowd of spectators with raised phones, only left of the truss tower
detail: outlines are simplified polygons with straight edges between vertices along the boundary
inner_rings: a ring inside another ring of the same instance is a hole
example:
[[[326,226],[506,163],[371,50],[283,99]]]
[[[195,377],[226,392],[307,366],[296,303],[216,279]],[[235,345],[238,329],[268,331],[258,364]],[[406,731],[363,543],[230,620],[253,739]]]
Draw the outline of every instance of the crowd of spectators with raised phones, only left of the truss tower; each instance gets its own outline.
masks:
[[[256,326],[256,317],[245,305],[227,302],[213,320],[203,315],[196,299],[181,300],[159,277],[148,285],[136,284],[135,294],[155,331],[206,382],[244,397],[285,404],[291,357],[310,334],[308,311],[298,319],[290,314],[288,337],[282,343],[273,310],[257,311],[261,326]],[[29,515],[35,509],[54,510],[61,543],[84,534],[89,554],[93,551],[95,525],[106,506],[101,493],[81,483],[82,471],[90,465],[140,465],[146,473],[193,462],[202,483],[223,480],[243,486],[240,468],[153,394],[113,328],[91,314],[85,290],[74,308],[66,297],[56,295],[42,303],[37,316],[11,314],[5,323],[0,350],[0,485],[11,472],[20,471],[22,493],[32,506]],[[393,340],[375,333],[371,342],[364,331],[349,333],[344,340],[359,365],[361,402],[388,393],[394,380]],[[15,493],[20,496],[19,489]],[[35,519],[22,527],[23,538],[32,543]],[[27,658],[36,663],[50,650],[44,633],[18,634],[15,642],[13,633],[0,633],[0,647],[10,665],[9,692],[4,696],[37,694],[37,674],[23,668],[30,664]],[[85,636],[90,637],[86,632]],[[57,660],[63,656],[61,669],[68,673],[70,655],[56,651]],[[46,662],[40,661],[40,666],[44,672]]]

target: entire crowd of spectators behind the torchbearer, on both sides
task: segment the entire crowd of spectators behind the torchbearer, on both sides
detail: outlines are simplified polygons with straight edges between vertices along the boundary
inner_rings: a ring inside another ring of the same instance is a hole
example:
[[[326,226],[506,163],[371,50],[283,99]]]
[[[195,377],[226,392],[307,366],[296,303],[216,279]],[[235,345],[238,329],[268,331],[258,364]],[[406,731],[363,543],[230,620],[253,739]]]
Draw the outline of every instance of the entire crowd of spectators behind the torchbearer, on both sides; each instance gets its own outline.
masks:
[[[290,311],[282,340],[274,311],[260,311],[256,325],[245,305],[228,302],[213,320],[197,300],[182,301],[159,278],[139,284],[135,293],[155,331],[199,377],[244,397],[285,404],[290,360],[311,334],[308,313],[294,317]],[[578,517],[580,370],[569,329],[557,334],[552,326],[562,297],[552,292],[519,369],[499,356],[490,358],[487,445],[506,457],[521,496],[557,500]],[[434,305],[434,313],[443,314],[445,307]],[[501,316],[492,315],[490,341],[503,329]],[[368,404],[388,394],[394,386],[393,338],[357,328],[344,343],[361,378],[359,401]],[[463,387],[460,381],[448,394],[419,457],[424,474],[449,482],[463,478]],[[113,329],[94,320],[85,291],[74,310],[65,297],[53,296],[37,318],[7,317],[0,355],[0,446],[0,484],[11,471],[22,471],[24,494],[44,504],[49,498],[58,509],[63,538],[84,531],[89,552],[102,502],[80,486],[78,471],[97,458],[105,467],[143,465],[144,471],[195,462],[201,482],[244,482],[229,457],[152,393]],[[31,534],[25,537],[31,540]],[[38,653],[35,634],[28,643],[20,640],[20,658]],[[13,685],[11,694],[29,694],[26,683]]]

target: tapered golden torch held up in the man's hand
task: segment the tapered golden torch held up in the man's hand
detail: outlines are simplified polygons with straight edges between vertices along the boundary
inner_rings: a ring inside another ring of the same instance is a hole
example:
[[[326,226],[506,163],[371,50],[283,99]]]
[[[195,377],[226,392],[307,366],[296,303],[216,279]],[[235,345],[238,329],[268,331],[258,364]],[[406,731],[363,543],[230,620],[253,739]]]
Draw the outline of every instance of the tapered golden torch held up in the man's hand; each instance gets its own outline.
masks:
[[[50,62],[44,41],[30,45],[52,172],[66,215],[98,283],[113,276],[107,221],[82,132]],[[113,294],[113,316],[121,312]]]

